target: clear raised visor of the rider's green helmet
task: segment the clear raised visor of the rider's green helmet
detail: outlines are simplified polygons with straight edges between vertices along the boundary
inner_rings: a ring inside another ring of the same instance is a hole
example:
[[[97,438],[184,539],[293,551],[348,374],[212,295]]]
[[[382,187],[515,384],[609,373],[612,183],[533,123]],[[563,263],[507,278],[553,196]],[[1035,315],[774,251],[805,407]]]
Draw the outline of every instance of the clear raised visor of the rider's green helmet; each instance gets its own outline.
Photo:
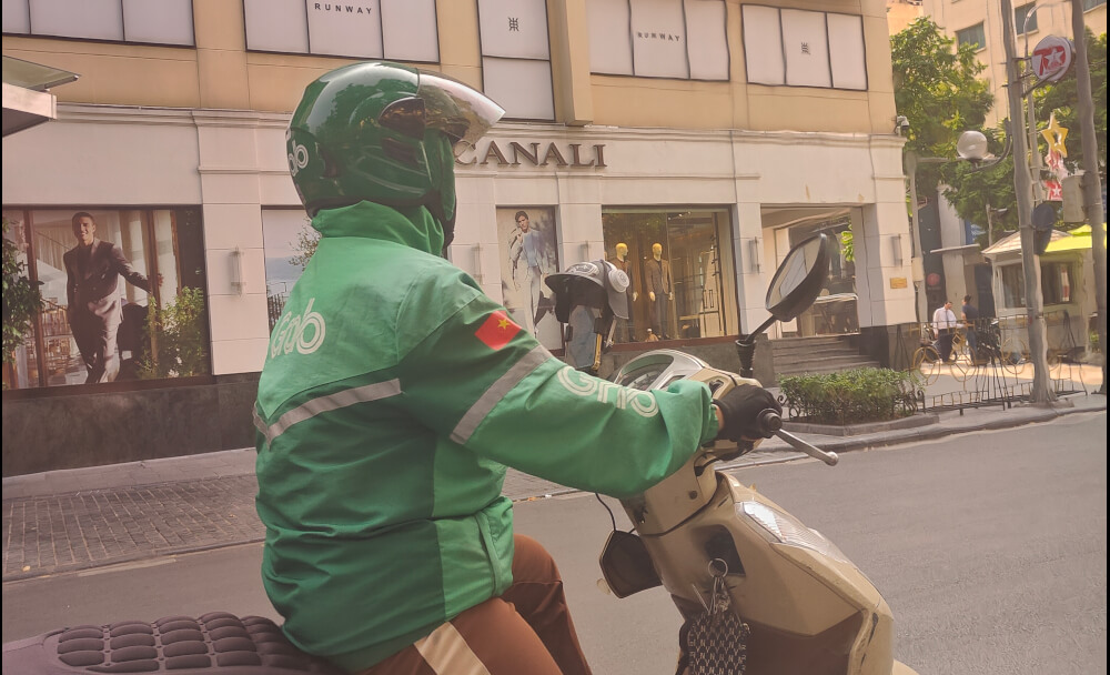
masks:
[[[420,71],[416,95],[424,100],[427,125],[446,133],[453,143],[473,145],[505,114],[484,94],[437,72]]]

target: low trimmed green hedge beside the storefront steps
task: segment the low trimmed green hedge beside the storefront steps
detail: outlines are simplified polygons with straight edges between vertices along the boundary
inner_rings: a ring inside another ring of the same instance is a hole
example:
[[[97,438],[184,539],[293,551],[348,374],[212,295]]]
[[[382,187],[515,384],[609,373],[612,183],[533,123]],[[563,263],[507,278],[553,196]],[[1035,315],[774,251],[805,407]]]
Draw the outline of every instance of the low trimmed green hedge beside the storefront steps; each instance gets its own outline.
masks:
[[[915,410],[909,375],[885,367],[783,377],[779,385],[790,417],[799,422],[882,422],[911,415]]]

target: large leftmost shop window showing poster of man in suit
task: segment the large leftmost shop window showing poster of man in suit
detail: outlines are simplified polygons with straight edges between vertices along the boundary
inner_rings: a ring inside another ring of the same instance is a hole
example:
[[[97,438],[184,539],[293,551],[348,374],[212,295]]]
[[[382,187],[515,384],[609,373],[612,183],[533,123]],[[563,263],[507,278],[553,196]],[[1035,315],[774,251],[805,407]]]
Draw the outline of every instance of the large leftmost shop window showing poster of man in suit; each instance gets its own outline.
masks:
[[[43,311],[10,389],[206,375],[200,210],[4,209]]]

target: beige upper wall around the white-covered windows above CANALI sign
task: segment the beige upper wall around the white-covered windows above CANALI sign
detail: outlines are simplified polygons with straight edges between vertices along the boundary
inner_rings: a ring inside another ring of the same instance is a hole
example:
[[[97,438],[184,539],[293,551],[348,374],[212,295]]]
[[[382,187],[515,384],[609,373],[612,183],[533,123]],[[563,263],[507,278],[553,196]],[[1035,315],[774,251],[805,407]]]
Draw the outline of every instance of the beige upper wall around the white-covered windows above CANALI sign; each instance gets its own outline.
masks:
[[[882,0],[788,0],[864,17],[868,91],[746,84],[740,0],[728,0],[729,82],[589,73],[586,0],[548,0],[557,122],[582,125],[890,133],[895,117]],[[770,3],[770,2],[767,2]],[[476,0],[437,2],[436,68],[481,87]],[[304,85],[350,61],[248,52],[242,2],[194,0],[195,48],[4,37],[3,53],[80,73],[59,101],[287,112]],[[446,30],[445,27],[451,27]]]

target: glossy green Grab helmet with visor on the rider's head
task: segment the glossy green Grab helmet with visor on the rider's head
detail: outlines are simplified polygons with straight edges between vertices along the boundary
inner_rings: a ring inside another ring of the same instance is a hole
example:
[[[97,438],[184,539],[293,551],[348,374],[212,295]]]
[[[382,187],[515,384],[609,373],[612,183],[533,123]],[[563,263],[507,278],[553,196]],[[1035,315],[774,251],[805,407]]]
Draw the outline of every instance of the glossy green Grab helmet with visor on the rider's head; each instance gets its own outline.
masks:
[[[504,113],[440,73],[387,61],[345,66],[309,84],[293,112],[293,184],[309,215],[364,200],[424,205],[450,239],[453,148],[474,144]]]

